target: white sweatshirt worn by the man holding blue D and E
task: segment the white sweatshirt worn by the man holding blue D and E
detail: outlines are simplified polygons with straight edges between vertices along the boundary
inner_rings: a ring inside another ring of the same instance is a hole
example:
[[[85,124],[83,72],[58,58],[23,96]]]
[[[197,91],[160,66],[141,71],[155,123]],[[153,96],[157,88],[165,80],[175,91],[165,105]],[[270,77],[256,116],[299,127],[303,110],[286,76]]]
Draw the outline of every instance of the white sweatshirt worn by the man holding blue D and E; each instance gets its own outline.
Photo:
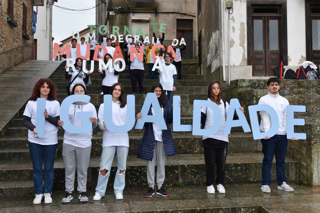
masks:
[[[279,119],[279,129],[276,134],[278,135],[286,135],[287,134],[287,106],[289,102],[284,97],[280,96],[279,93],[277,95],[268,95],[262,96],[259,100],[258,104],[267,104],[271,106],[278,115]],[[260,111],[261,116],[261,124],[260,131],[267,132],[271,127],[270,116],[266,111]]]

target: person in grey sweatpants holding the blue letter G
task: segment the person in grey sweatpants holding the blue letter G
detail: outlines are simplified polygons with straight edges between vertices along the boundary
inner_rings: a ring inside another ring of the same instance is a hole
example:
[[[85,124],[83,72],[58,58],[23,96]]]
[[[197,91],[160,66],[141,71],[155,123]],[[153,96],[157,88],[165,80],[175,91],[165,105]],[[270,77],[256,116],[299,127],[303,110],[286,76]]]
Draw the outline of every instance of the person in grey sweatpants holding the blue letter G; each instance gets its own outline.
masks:
[[[87,95],[87,91],[82,84],[76,84],[71,95]],[[75,102],[69,108],[69,120],[74,126],[83,126],[83,119],[76,118],[78,112],[91,112],[90,119],[92,128],[98,125],[97,111],[92,103]],[[63,126],[63,121],[59,120],[59,126]],[[73,199],[72,192],[75,186],[75,174],[77,167],[77,180],[79,200],[87,202],[87,171],[90,163],[92,130],[88,133],[68,133],[64,132],[62,144],[62,156],[66,173],[66,192],[67,194],[62,198],[63,203],[68,203]]]

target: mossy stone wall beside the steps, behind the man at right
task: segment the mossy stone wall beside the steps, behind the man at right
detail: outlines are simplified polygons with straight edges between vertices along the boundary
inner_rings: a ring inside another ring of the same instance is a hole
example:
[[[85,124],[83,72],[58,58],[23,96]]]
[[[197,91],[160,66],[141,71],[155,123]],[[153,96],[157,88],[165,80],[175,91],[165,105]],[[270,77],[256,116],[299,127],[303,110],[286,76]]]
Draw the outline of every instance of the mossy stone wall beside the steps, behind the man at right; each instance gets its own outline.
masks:
[[[288,142],[287,156],[298,160],[299,179],[311,186],[320,185],[320,81],[280,80],[280,95],[291,105],[305,105],[306,112],[295,113],[295,118],[305,119],[304,126],[295,126],[296,133],[306,133],[306,140]],[[267,95],[267,80],[232,80],[230,98],[238,98],[245,107],[258,104],[261,96]]]

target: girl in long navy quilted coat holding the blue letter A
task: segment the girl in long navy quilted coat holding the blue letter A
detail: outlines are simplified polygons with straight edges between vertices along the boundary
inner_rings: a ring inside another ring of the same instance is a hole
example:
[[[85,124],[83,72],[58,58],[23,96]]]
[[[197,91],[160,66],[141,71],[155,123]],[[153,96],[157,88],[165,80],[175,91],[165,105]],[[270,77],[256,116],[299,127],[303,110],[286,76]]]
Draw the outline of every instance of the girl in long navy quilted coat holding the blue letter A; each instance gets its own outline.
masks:
[[[173,66],[174,67],[174,66]],[[145,123],[145,132],[143,134],[140,146],[137,151],[137,157],[147,161],[147,180],[149,190],[145,194],[146,197],[151,197],[155,194],[155,164],[157,161],[157,190],[156,194],[169,196],[169,193],[162,188],[164,183],[164,165],[167,156],[177,154],[169,124],[173,121],[172,107],[169,101],[165,98],[162,85],[158,82],[151,85],[151,91],[156,93],[161,112],[164,117],[166,130],[161,130],[158,124]],[[143,103],[142,103],[143,104]],[[150,107],[148,115],[154,115],[153,107]],[[137,119],[142,118],[142,113],[137,114]]]

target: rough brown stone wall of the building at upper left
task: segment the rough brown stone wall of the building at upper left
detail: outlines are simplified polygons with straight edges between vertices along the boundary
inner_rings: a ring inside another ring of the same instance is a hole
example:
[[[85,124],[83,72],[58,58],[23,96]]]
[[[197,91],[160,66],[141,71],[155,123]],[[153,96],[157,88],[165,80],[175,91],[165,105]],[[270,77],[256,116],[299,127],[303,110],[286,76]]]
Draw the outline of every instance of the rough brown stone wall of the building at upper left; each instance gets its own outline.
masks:
[[[27,34],[30,40],[22,37],[22,3],[27,6]],[[0,52],[19,47],[21,45],[33,41],[32,33],[32,12],[33,0],[16,0],[14,1],[13,19],[17,22],[18,27],[12,27],[7,22],[8,0],[0,0]],[[32,59],[31,45],[14,50],[14,65],[20,64],[24,60],[24,52],[26,52],[26,60]],[[12,51],[0,54],[0,73],[8,70],[12,66]]]

